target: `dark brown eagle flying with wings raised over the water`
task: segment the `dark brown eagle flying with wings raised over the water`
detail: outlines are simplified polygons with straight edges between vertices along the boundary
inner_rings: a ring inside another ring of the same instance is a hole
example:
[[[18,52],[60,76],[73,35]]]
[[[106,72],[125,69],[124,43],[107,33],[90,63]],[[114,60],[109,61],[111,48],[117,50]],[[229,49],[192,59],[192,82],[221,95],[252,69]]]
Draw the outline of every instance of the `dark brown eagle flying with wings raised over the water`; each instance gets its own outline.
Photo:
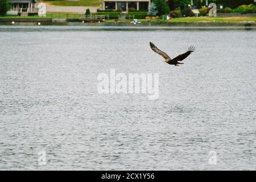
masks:
[[[196,50],[195,47],[191,46],[188,48],[187,52],[175,57],[174,59],[171,59],[171,57],[168,56],[167,53],[161,51],[152,42],[150,42],[150,47],[153,51],[155,51],[156,53],[158,53],[160,56],[162,56],[164,58],[164,62],[166,62],[168,64],[173,64],[175,66],[179,66],[179,64],[184,64],[184,63],[179,63],[179,61],[184,60],[186,57],[188,57],[188,55],[190,55],[192,52],[194,52]]]

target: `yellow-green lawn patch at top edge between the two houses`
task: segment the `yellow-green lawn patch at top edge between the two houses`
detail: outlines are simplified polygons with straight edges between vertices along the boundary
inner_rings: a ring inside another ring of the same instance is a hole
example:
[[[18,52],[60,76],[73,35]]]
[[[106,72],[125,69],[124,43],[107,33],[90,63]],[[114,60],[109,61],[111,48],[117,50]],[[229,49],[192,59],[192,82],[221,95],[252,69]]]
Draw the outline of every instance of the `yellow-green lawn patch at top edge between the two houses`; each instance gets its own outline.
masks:
[[[42,2],[55,6],[100,6],[102,0],[42,0]]]

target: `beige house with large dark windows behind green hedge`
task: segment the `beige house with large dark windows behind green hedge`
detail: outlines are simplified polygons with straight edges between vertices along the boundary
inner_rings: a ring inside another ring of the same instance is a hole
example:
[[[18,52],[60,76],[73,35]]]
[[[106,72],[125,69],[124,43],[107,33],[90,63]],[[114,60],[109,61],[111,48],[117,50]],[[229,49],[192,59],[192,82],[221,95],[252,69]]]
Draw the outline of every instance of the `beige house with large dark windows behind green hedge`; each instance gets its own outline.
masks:
[[[103,10],[148,10],[150,0],[103,0]]]

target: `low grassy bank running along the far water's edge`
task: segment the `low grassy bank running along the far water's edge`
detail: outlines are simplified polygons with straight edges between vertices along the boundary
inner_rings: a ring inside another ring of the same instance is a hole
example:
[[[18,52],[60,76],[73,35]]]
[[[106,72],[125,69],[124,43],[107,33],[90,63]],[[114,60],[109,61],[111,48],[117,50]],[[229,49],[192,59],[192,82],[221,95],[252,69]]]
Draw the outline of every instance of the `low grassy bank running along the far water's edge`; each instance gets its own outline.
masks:
[[[85,16],[79,14],[65,14],[65,13],[56,13],[56,14],[47,14],[44,18],[39,18],[38,16],[0,16],[0,22],[89,22],[89,23],[115,23],[115,24],[124,24],[130,23],[132,19],[86,19]],[[142,26],[147,24],[195,24],[195,25],[219,25],[225,26],[230,24],[256,24],[256,16],[230,16],[230,17],[184,17],[184,18],[174,18],[171,20],[146,20],[139,19],[142,22]]]

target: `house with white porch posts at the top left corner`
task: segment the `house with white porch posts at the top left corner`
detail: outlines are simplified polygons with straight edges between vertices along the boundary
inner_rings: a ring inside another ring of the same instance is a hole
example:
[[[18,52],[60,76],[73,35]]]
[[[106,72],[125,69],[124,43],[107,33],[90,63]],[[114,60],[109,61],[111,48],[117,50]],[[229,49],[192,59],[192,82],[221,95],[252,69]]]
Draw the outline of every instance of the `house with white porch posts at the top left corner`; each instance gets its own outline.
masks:
[[[11,9],[7,14],[27,16],[38,13],[39,0],[9,0]]]

